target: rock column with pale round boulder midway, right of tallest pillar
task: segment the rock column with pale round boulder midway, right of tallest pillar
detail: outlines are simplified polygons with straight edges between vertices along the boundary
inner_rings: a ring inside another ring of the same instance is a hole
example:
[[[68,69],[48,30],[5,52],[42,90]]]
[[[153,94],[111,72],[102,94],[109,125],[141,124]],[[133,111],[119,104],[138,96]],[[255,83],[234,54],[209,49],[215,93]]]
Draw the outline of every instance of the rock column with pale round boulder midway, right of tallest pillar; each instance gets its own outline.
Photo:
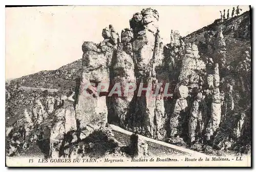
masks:
[[[201,127],[204,127],[205,121],[202,121],[202,118],[204,117],[202,117],[200,113],[204,110],[202,109],[202,106],[200,106],[199,109],[198,99],[194,101],[192,107],[190,107],[190,99],[193,98],[195,94],[197,95],[197,92],[200,92],[200,90],[202,91],[202,74],[205,72],[206,67],[198,54],[196,45],[191,45],[190,43],[186,44],[184,53],[178,77],[178,84],[175,89],[175,97],[178,99],[175,102],[173,113],[170,116],[169,137],[173,138],[186,135],[187,130],[185,130],[185,124],[188,122],[188,135],[193,142],[196,136],[195,125],[201,123]],[[198,93],[198,95],[200,94]],[[191,114],[188,115],[190,111]],[[200,121],[199,123],[198,120]],[[199,133],[202,133],[202,131]]]

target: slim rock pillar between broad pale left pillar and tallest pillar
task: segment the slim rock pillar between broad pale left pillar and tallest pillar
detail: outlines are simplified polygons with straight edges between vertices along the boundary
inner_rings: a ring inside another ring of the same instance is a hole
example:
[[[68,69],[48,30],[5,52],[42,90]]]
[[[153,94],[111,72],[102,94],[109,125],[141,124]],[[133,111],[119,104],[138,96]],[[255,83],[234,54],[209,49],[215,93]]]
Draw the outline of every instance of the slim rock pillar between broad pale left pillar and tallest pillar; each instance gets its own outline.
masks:
[[[132,46],[133,32],[131,29],[123,29],[121,42],[118,44],[116,58],[113,61],[113,82],[112,85],[120,84],[121,96],[113,96],[114,115],[117,116],[120,126],[127,124],[127,114],[129,113],[130,103],[136,90],[136,78],[134,75],[134,56]]]

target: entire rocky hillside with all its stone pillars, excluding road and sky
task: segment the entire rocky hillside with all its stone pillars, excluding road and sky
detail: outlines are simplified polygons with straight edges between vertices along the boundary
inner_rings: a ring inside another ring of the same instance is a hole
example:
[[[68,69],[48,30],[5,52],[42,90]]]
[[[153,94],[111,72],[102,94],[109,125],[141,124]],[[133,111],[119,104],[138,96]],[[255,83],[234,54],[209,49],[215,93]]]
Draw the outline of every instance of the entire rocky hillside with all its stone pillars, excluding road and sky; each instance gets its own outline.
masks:
[[[159,17],[156,10],[143,9],[120,38],[109,25],[99,44],[84,42],[81,60],[6,83],[7,155],[26,154],[35,145],[46,158],[147,155],[147,143],[140,138],[134,144],[138,155],[127,155],[107,123],[199,151],[247,153],[248,14],[186,37],[172,30],[167,45]],[[44,82],[38,81],[40,75]],[[24,91],[22,85],[55,91]]]

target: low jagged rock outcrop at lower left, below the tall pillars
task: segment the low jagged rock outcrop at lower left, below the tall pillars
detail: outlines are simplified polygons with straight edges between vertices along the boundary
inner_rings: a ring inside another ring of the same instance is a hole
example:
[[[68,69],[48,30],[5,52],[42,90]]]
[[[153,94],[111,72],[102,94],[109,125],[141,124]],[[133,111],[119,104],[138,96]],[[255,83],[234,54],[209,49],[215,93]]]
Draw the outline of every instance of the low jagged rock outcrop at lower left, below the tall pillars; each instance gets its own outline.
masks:
[[[24,120],[8,132],[7,154],[22,155],[34,145],[40,145],[45,158],[59,157],[63,138],[74,130],[77,130],[75,110],[67,96],[36,99],[25,109]]]

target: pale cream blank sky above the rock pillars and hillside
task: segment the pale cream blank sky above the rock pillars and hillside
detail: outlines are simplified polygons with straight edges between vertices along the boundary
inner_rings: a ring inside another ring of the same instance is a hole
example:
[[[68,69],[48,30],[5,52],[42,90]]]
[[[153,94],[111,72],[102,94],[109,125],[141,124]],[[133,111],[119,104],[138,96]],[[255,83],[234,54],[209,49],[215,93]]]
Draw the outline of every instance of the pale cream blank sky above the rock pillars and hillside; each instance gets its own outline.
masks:
[[[82,57],[84,41],[99,43],[110,24],[121,33],[133,14],[150,6],[59,6],[6,8],[6,79],[55,70]],[[170,30],[181,36],[220,18],[236,6],[151,6],[159,12],[164,44]],[[242,13],[249,6],[240,6]]]

